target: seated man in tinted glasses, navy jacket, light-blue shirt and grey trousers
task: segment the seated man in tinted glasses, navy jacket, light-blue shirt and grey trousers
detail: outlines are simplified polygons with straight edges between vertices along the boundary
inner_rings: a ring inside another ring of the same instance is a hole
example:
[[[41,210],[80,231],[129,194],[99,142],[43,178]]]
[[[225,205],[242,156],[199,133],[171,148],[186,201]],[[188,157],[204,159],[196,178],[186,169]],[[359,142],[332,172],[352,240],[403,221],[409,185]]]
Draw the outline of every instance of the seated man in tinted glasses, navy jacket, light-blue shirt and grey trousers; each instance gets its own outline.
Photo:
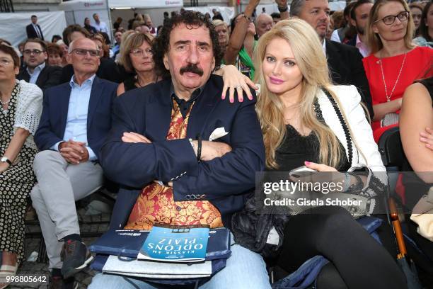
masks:
[[[44,94],[35,143],[37,185],[30,196],[50,259],[50,288],[73,288],[69,278],[92,256],[81,242],[75,201],[103,184],[100,147],[111,128],[117,84],[99,79],[98,46],[88,38],[69,45],[74,76]]]

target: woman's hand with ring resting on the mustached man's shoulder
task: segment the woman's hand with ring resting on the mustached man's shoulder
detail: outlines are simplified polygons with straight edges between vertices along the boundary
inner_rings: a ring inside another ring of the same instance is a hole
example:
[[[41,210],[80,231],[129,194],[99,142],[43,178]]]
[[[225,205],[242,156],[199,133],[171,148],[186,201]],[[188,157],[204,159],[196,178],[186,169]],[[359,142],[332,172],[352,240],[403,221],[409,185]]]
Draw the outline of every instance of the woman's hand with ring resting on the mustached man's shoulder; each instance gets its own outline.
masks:
[[[229,89],[229,99],[230,102],[234,102],[234,91],[236,89],[238,93],[238,101],[243,101],[243,92],[245,91],[248,99],[253,100],[253,95],[251,94],[250,88],[257,90],[258,87],[255,86],[254,82],[248,77],[238,71],[234,65],[224,65],[221,69],[217,70],[215,74],[223,77],[224,87],[222,91],[222,99],[226,98],[227,89]],[[249,86],[249,87],[248,87]]]

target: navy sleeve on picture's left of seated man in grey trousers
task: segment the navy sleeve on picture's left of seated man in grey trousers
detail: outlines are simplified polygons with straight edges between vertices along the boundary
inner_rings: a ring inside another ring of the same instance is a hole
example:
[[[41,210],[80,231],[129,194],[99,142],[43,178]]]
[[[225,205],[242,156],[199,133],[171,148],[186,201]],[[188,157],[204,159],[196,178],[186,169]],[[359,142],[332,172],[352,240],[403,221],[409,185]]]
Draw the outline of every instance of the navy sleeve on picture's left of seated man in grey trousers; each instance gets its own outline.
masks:
[[[50,91],[47,89],[44,92],[44,99],[42,101],[42,115],[40,116],[39,127],[35,132],[35,143],[39,150],[50,149],[57,142],[62,139],[52,132],[50,122]]]

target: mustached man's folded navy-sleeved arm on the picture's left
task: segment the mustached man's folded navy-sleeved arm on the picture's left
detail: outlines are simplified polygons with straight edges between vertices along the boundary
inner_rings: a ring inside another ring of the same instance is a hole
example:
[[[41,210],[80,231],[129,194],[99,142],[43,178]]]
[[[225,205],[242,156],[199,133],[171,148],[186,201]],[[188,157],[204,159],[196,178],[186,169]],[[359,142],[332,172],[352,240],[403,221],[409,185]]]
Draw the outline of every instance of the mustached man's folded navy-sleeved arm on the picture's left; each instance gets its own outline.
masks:
[[[100,151],[100,164],[108,179],[124,186],[142,188],[151,181],[170,180],[183,171],[196,169],[197,159],[186,139],[151,144],[122,142],[124,132],[146,136],[144,129],[137,128],[127,111],[122,99],[117,98],[112,129]]]

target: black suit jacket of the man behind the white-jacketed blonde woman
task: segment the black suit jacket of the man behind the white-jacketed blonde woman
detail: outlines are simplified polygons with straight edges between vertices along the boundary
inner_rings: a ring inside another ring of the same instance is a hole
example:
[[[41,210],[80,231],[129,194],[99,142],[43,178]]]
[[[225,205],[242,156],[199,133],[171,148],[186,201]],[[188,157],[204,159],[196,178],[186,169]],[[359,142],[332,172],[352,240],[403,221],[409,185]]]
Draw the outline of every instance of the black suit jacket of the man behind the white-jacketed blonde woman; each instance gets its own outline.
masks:
[[[369,110],[373,119],[373,105],[369,81],[366,79],[362,55],[357,47],[341,44],[335,41],[326,41],[326,56],[333,82],[335,84],[352,84],[357,87],[361,94],[362,102]]]

